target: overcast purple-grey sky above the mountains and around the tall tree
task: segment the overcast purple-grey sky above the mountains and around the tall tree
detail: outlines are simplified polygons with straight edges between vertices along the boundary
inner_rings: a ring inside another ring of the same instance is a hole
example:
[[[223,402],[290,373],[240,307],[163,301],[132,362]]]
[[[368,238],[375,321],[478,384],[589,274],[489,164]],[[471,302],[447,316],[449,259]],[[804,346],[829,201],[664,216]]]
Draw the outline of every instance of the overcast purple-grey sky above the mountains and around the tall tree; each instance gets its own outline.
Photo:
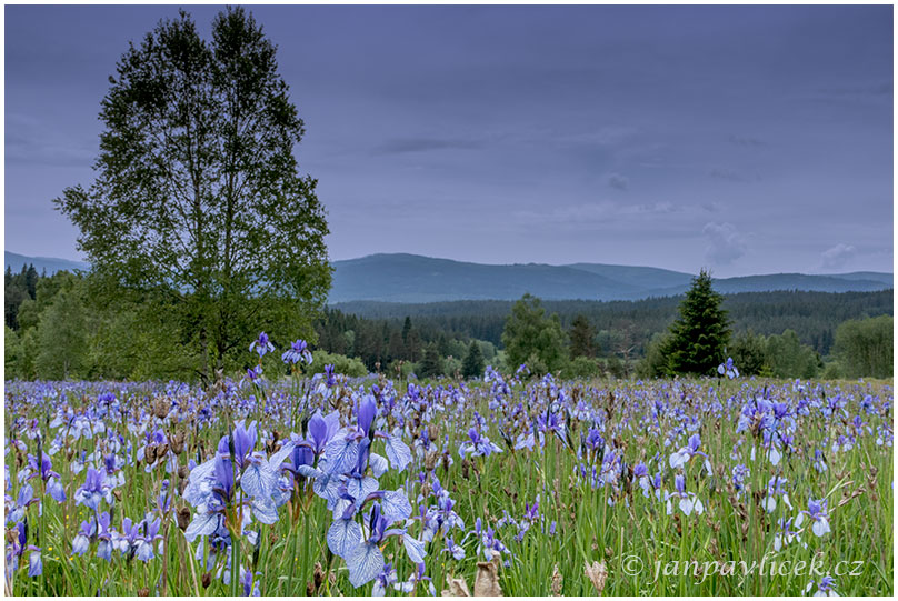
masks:
[[[6,249],[80,258],[108,77],[178,7],[6,12]],[[188,8],[208,36],[216,7]],[[892,7],[252,7],[331,259],[892,269]]]

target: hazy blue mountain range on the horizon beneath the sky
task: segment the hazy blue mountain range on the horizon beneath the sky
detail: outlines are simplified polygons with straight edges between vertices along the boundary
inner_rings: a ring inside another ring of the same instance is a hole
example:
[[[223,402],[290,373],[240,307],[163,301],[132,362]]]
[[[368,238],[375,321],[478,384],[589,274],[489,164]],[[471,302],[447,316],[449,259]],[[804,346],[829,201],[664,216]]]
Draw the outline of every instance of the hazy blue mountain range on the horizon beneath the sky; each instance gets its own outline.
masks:
[[[24,257],[6,252],[6,263],[18,272],[33,263],[42,272],[88,269],[79,261]],[[515,300],[525,292],[546,300],[638,300],[671,297],[688,290],[692,274],[651,267],[572,263],[490,266],[418,254],[371,254],[333,262],[331,304],[350,301],[441,302]],[[722,293],[808,290],[816,292],[872,291],[892,288],[892,274],[876,271],[810,276],[771,273],[715,280]]]

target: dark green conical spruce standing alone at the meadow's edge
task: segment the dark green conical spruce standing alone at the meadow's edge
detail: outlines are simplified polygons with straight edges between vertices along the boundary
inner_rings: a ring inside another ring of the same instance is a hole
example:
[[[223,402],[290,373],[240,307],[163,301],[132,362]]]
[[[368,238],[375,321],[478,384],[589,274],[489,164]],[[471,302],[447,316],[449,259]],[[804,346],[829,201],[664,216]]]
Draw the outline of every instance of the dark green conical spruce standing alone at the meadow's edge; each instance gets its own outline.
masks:
[[[711,274],[702,269],[692,279],[662,349],[669,374],[710,375],[727,359],[730,329],[722,302],[724,297],[711,287]]]

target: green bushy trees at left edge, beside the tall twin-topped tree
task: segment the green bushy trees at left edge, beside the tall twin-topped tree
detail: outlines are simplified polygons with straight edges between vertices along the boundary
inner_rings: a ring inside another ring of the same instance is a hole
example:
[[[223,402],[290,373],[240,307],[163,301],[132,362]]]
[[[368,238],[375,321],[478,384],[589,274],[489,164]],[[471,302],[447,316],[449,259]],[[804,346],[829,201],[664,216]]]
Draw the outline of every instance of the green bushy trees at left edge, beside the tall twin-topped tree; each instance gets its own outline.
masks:
[[[150,297],[99,302],[82,274],[6,273],[6,378],[194,380],[178,319]]]

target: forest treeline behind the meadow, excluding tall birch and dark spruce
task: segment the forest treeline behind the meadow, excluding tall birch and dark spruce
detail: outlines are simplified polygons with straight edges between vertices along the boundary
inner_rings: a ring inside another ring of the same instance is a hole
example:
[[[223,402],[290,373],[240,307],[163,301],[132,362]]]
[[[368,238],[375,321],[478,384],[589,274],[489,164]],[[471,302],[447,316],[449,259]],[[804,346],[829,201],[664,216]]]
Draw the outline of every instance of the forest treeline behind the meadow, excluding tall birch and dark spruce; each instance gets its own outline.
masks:
[[[197,347],[183,338],[180,323],[189,315],[166,311],[164,302],[153,298],[98,302],[91,286],[82,274],[46,277],[32,266],[20,273],[7,270],[7,378],[198,378]],[[517,322],[529,325],[517,338],[539,338],[538,352],[525,344],[509,353],[508,342],[515,337],[502,334],[518,303],[505,301],[342,305],[366,317],[326,309],[312,321],[316,335],[309,342],[316,351],[316,371],[333,363],[338,371],[353,375],[378,371],[477,375],[490,363],[513,370],[517,364],[512,363],[523,358],[521,362],[529,361],[538,370],[550,368],[565,377],[650,377],[663,373],[661,339],[681,301],[682,297],[547,301],[527,311],[519,307]],[[721,307],[734,332],[726,350],[746,375],[888,377],[891,302],[891,290],[726,297]],[[549,317],[541,313],[543,309]],[[408,314],[397,317],[398,312]],[[269,334],[279,348],[291,342],[280,340],[276,329]],[[251,338],[248,332],[247,339]],[[229,373],[251,363],[252,357],[241,350],[226,361]],[[278,369],[277,361],[271,369]]]

